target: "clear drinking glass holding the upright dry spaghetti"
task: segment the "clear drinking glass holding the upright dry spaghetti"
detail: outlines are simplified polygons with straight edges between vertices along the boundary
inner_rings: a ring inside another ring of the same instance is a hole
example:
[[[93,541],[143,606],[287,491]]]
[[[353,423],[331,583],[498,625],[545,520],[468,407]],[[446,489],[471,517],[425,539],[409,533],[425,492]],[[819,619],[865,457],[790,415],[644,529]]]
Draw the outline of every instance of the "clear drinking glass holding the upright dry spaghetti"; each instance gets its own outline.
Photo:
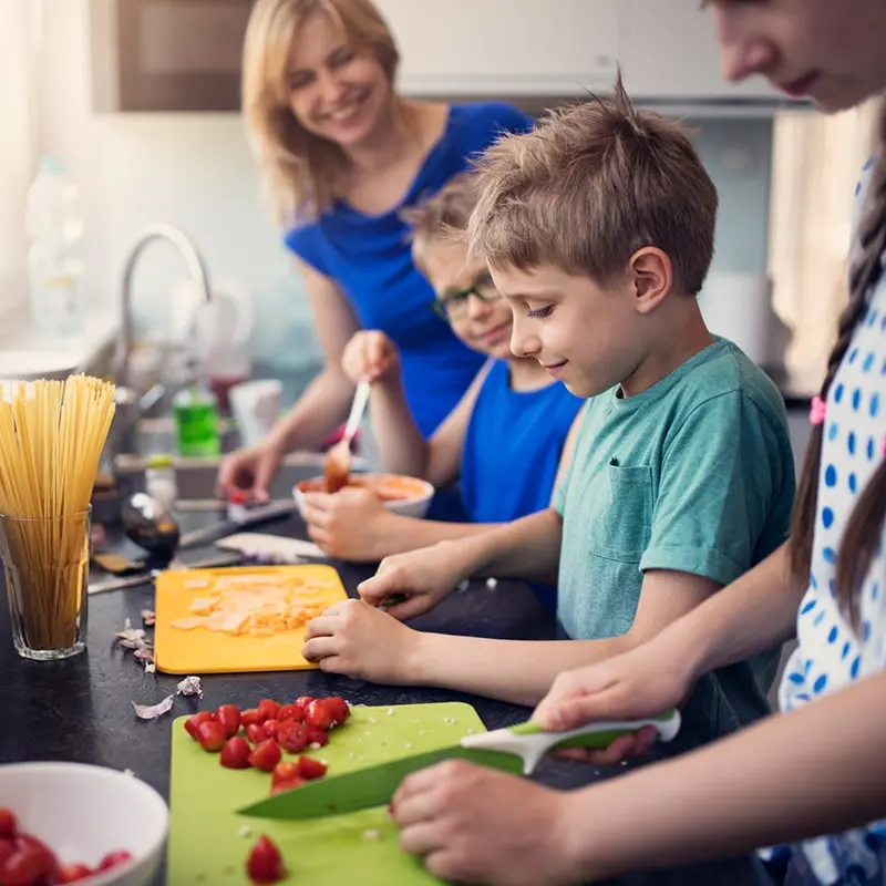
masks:
[[[38,661],[70,658],[86,648],[90,511],[59,517],[0,515],[12,642]]]

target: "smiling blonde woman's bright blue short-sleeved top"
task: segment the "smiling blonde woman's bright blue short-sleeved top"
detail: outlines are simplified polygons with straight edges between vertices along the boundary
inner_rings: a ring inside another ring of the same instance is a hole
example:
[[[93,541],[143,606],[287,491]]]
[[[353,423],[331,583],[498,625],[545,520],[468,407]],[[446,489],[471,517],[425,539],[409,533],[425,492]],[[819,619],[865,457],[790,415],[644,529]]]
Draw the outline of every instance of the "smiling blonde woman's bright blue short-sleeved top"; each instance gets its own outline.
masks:
[[[400,212],[436,194],[502,133],[525,132],[532,123],[503,102],[452,105],[443,136],[399,206],[368,216],[338,200],[317,222],[286,234],[299,258],[341,287],[361,327],[380,329],[396,343],[406,402],[425,437],[462,399],[483,358],[434,313],[434,292],[412,264]]]

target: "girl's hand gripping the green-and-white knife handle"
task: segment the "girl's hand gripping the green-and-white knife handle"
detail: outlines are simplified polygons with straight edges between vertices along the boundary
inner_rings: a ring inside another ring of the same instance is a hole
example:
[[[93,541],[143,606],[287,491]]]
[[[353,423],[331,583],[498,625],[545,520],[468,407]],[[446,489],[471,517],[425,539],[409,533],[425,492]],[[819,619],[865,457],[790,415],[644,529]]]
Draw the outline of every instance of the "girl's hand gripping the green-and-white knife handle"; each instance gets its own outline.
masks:
[[[652,640],[616,658],[564,671],[533,720],[552,732],[606,720],[641,720],[678,707],[690,690],[691,677]],[[562,751],[557,756],[610,765],[646,753],[657,734],[656,729],[643,728],[616,739],[604,751]]]

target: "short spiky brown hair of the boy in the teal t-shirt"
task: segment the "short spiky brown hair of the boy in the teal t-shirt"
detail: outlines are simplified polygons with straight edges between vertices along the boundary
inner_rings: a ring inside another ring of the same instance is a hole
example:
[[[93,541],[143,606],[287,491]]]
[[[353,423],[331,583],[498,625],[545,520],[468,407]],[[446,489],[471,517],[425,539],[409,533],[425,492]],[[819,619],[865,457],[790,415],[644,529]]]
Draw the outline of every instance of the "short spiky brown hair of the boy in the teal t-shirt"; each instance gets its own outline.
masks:
[[[605,282],[656,246],[674,289],[698,295],[713,256],[717,188],[679,124],[608,99],[556,110],[477,161],[471,254],[495,266],[554,265]]]

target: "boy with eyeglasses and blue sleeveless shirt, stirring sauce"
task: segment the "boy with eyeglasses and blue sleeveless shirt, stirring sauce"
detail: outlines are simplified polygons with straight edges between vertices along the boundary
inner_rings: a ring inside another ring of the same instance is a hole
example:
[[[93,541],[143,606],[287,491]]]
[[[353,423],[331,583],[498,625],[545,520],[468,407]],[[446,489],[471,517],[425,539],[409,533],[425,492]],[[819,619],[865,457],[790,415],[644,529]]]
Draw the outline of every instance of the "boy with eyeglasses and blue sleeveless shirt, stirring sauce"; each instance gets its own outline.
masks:
[[[342,559],[380,560],[436,542],[463,538],[550,504],[581,399],[534,358],[511,352],[513,313],[484,264],[467,260],[463,233],[476,200],[475,176],[463,173],[408,213],[413,259],[436,293],[433,309],[468,347],[490,359],[459,405],[425,441],[413,421],[396,347],[383,332],[358,332],[344,371],[372,381],[370,414],[385,471],[441,487],[461,477],[471,523],[402,517],[367,490],[308,496],[311,538]]]

